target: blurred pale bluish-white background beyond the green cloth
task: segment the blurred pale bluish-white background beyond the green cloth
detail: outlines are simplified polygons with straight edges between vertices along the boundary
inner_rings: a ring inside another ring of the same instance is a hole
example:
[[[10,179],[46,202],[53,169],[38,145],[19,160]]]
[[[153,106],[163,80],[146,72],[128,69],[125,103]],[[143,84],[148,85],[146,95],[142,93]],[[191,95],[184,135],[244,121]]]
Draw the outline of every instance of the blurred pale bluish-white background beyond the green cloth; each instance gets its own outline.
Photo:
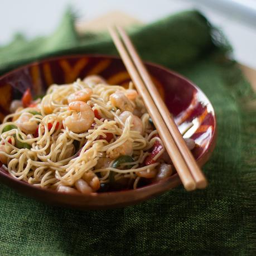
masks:
[[[28,38],[54,31],[66,7],[73,6],[79,23],[121,11],[146,23],[177,11],[196,8],[221,27],[241,64],[256,69],[256,0],[0,0],[0,45],[16,32]]]

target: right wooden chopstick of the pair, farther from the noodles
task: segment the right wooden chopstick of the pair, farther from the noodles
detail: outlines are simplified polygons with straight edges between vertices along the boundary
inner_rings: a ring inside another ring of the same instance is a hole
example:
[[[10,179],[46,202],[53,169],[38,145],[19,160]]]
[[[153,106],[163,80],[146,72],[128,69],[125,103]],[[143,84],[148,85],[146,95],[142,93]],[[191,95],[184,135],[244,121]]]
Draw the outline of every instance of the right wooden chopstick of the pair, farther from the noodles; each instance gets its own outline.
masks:
[[[192,173],[192,176],[194,177],[196,187],[198,189],[204,189],[207,186],[206,178],[200,170],[200,167],[197,165],[195,158],[193,157],[190,149],[186,145],[186,142],[182,138],[180,131],[178,131],[177,125],[169,114],[169,110],[167,109],[166,104],[163,102],[160,94],[158,93],[156,86],[154,86],[146,67],[144,66],[141,58],[139,57],[136,49],[132,44],[131,39],[128,37],[127,33],[123,30],[122,27],[117,26],[117,30],[124,42],[125,47],[127,48],[129,54],[132,57],[132,60],[136,65],[139,74],[144,80],[144,84],[146,85],[148,91],[151,92],[154,103],[156,104],[158,109],[161,109],[160,113],[162,115],[162,118],[163,120],[165,120],[168,130],[170,131],[178,149],[180,150],[187,166],[190,169],[190,172]]]

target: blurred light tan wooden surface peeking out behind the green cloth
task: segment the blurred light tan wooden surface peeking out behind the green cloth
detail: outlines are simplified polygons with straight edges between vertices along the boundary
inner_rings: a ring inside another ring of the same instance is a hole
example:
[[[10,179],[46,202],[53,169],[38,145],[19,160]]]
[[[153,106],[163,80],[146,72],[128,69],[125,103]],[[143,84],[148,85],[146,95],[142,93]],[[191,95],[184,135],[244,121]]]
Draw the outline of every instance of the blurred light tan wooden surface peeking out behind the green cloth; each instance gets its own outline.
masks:
[[[92,21],[80,21],[76,24],[76,29],[80,33],[85,31],[100,32],[107,30],[108,26],[113,26],[115,24],[127,27],[134,24],[142,24],[142,22],[126,13],[114,11]],[[243,64],[239,64],[239,67],[243,71],[245,78],[247,78],[250,84],[252,84],[253,89],[256,91],[256,70]]]

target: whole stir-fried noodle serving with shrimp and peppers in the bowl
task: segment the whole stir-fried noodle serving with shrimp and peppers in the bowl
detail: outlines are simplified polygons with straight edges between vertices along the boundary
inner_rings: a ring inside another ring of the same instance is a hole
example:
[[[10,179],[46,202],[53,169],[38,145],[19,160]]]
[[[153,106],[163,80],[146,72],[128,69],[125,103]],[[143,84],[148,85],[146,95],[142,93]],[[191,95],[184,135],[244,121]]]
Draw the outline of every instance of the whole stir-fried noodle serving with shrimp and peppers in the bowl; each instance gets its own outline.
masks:
[[[175,171],[132,83],[125,89],[88,76],[51,85],[37,99],[28,89],[10,111],[0,126],[0,161],[34,186],[83,194],[136,189]]]

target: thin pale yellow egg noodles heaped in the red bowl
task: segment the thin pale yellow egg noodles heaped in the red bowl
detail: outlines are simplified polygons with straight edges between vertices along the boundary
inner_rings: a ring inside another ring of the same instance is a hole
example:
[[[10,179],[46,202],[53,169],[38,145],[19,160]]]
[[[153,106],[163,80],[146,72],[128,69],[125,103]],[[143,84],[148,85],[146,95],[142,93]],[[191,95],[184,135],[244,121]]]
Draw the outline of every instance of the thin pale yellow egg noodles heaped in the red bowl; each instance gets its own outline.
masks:
[[[82,110],[79,113],[71,109],[68,97],[88,88],[92,94],[85,101],[86,107],[89,105],[93,112],[85,111],[84,114],[94,113],[93,123],[89,124],[86,131],[78,132],[80,125],[88,125],[88,116],[83,119]],[[159,165],[157,161],[146,166],[143,163],[153,144],[157,140],[162,142],[156,136],[156,129],[149,123],[149,115],[139,96],[128,100],[128,105],[121,102],[122,107],[110,100],[110,95],[127,95],[131,89],[132,83],[127,90],[123,86],[86,83],[86,80],[80,79],[73,84],[51,85],[42,99],[4,118],[0,126],[0,156],[2,162],[3,158],[6,159],[6,170],[19,180],[49,189],[57,189],[60,185],[75,187],[77,181],[83,178],[86,180],[88,173],[98,178],[100,183],[109,183],[112,179],[110,174],[113,173],[115,182],[127,178],[136,188],[143,176],[138,173],[150,173]],[[126,110],[125,107],[133,111],[133,115],[128,115],[124,120],[120,116]],[[19,123],[19,118],[26,114],[29,120],[20,120]],[[141,120],[141,132],[134,129],[134,115]],[[67,123],[68,118],[73,118],[70,120],[74,120],[74,123]],[[36,132],[26,131],[26,125],[30,124],[36,125]],[[5,127],[13,128],[4,131]],[[107,139],[109,135],[110,141]],[[17,143],[28,147],[18,148]],[[133,161],[125,162],[124,159],[118,167],[113,167],[114,161],[125,154],[132,157]],[[103,159],[108,165],[100,164],[104,162]]]

